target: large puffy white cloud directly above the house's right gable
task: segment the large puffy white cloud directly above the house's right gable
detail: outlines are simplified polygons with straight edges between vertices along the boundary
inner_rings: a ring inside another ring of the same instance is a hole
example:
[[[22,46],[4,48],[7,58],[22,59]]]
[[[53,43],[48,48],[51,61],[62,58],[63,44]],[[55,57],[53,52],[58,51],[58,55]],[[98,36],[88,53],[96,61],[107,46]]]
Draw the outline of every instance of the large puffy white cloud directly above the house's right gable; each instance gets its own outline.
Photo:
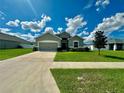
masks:
[[[74,35],[79,28],[82,28],[87,24],[87,22],[84,21],[84,18],[80,15],[74,18],[65,18],[65,20],[67,21],[66,32],[72,35]]]

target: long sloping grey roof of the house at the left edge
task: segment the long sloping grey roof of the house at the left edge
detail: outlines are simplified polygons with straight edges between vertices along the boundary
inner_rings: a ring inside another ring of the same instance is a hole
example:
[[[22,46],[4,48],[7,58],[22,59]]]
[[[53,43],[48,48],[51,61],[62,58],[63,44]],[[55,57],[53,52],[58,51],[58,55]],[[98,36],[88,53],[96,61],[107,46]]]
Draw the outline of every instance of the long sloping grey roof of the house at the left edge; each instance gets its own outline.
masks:
[[[16,36],[11,36],[8,34],[4,34],[0,32],[0,40],[8,40],[8,41],[15,41],[15,42],[20,42],[20,43],[30,43],[29,41],[26,41],[24,39],[21,39]]]

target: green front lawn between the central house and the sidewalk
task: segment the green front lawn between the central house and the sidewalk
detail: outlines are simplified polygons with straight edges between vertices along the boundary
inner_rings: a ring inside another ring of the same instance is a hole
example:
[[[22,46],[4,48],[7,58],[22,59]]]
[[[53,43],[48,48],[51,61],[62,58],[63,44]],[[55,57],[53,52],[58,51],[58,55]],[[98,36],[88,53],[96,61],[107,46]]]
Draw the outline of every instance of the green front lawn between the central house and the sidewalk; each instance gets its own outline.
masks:
[[[124,62],[124,51],[58,52],[55,61],[72,62]]]

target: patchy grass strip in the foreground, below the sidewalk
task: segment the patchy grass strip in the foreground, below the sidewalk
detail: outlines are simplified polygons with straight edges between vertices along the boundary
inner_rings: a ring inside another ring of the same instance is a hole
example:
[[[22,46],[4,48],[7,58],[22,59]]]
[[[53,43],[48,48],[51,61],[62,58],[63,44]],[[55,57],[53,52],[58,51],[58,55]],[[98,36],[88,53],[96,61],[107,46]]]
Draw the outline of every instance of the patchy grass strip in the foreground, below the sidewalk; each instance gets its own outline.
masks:
[[[124,93],[124,69],[52,69],[61,93]]]

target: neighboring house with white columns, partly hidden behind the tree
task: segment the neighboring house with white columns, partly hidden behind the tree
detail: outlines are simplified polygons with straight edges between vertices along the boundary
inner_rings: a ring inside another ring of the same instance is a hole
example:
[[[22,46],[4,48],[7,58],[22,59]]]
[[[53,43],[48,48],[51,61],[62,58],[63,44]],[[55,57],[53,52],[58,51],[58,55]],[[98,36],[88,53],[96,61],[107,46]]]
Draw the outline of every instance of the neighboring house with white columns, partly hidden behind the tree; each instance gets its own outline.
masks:
[[[91,50],[97,50],[93,44],[87,45]],[[109,38],[106,48],[102,50],[124,50],[124,40],[123,39],[113,39]]]

